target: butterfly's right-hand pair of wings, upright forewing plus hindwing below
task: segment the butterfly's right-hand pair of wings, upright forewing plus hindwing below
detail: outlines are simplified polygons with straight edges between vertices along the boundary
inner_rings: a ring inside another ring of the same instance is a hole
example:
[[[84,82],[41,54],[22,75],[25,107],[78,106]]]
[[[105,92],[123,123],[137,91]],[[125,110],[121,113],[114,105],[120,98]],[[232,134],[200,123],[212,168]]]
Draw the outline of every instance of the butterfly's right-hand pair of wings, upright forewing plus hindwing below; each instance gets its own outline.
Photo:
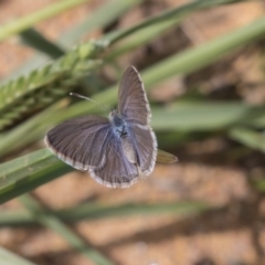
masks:
[[[127,123],[139,168],[149,174],[157,157],[157,139],[150,127],[151,112],[139,73],[130,66],[120,82],[118,112]]]

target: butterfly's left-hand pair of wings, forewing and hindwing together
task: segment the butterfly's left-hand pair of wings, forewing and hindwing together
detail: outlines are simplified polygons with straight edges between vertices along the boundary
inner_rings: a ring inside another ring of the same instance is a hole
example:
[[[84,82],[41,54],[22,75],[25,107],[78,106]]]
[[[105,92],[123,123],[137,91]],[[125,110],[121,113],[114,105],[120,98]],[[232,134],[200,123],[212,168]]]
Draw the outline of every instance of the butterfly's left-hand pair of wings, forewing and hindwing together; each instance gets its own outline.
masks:
[[[51,129],[47,147],[64,162],[107,187],[129,187],[137,181],[138,169],[124,155],[120,139],[107,118],[87,116],[66,120]]]

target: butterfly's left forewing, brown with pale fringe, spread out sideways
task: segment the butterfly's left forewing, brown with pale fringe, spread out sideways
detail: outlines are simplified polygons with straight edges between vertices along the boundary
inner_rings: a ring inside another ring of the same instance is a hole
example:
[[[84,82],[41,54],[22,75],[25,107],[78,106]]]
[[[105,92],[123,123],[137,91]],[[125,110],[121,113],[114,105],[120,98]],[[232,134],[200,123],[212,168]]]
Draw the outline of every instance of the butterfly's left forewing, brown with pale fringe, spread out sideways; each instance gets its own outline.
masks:
[[[106,162],[104,147],[110,129],[109,120],[104,117],[74,118],[51,129],[45,137],[45,144],[73,168],[99,168]]]

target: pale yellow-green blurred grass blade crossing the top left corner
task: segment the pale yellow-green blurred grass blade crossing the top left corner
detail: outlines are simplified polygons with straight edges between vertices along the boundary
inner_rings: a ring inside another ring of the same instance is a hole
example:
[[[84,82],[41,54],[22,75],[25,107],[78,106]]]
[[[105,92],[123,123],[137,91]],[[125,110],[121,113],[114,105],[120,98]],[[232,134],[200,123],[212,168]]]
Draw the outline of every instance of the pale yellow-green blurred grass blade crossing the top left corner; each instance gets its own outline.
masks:
[[[20,33],[23,30],[32,28],[36,23],[39,23],[43,20],[52,18],[52,17],[61,13],[62,11],[74,8],[84,2],[87,2],[87,0],[60,1],[54,4],[51,4],[50,7],[47,7],[45,9],[42,9],[39,12],[34,12],[30,15],[26,15],[24,18],[21,18],[21,19],[14,20],[13,22],[4,24],[4,25],[0,26],[0,41],[13,35],[13,34]]]

